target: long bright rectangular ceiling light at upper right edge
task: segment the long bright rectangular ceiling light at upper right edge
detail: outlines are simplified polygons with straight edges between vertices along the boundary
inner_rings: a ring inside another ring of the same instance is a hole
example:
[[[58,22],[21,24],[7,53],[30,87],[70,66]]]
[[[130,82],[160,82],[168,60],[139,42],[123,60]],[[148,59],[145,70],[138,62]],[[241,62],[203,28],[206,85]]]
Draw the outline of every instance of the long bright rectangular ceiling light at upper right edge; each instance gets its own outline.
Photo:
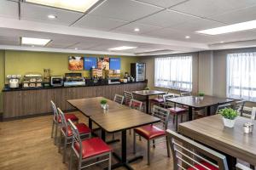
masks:
[[[256,20],[241,22],[241,23],[232,24],[229,26],[220,26],[217,28],[212,28],[212,29],[207,29],[202,31],[195,31],[195,32],[208,34],[208,35],[218,35],[218,34],[230,33],[235,31],[252,30],[254,28],[256,28]]]

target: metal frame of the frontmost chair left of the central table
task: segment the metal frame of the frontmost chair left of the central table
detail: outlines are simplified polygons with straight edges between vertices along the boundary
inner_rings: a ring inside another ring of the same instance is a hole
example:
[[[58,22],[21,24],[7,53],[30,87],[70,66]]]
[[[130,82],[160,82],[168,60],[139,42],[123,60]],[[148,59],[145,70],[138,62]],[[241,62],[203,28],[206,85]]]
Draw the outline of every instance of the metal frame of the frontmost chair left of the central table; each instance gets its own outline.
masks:
[[[72,129],[72,132],[73,132],[73,140],[72,140],[72,150],[71,150],[71,153],[70,153],[70,162],[69,162],[69,167],[68,167],[68,170],[71,170],[72,169],[72,165],[73,165],[73,153],[75,156],[77,156],[77,158],[79,159],[79,170],[84,168],[84,167],[90,167],[92,165],[96,165],[98,163],[101,163],[103,161],[108,161],[108,170],[111,170],[111,156],[112,156],[112,152],[109,151],[109,152],[106,152],[106,153],[103,153],[103,154],[99,154],[97,156],[90,156],[89,158],[86,158],[86,159],[83,159],[82,158],[82,140],[80,138],[80,135],[79,135],[79,130],[77,127],[75,127],[75,125],[73,124],[72,121],[68,120],[68,124],[70,125],[71,129]],[[75,143],[79,143],[79,152],[74,148],[74,144]],[[85,150],[85,149],[84,149]],[[98,159],[102,156],[108,156],[107,159],[104,159],[104,160],[101,160],[101,161],[98,161]],[[82,163],[84,161],[90,161],[92,159],[96,159],[97,161],[95,163],[91,163],[90,165],[86,165],[86,166],[83,166],[82,167]]]

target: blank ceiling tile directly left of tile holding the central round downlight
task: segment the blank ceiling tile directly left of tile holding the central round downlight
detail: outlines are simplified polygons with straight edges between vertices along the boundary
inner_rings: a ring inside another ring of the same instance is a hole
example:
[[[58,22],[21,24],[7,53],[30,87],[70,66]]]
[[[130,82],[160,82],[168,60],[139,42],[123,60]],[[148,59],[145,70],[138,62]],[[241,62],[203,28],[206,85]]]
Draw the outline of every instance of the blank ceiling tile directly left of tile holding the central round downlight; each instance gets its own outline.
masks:
[[[102,31],[109,31],[118,26],[125,25],[127,23],[123,20],[113,20],[110,18],[103,18],[94,15],[86,15],[81,20],[76,22],[73,26],[79,26],[83,28],[91,28]]]

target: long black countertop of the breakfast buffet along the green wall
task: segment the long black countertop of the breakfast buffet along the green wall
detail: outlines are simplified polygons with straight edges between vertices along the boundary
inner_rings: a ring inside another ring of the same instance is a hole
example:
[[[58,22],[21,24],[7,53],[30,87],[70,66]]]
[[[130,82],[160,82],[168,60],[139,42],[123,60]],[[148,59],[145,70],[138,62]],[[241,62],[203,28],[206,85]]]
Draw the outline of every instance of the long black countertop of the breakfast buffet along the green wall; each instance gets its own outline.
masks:
[[[148,82],[147,80],[143,82]],[[43,88],[9,88],[4,87],[2,92],[14,92],[14,91],[25,91],[25,90],[40,90],[40,89],[52,89],[52,88],[82,88],[82,87],[93,87],[93,86],[111,86],[111,85],[124,85],[124,84],[132,84],[132,83],[143,83],[143,82],[126,82],[126,83],[119,83],[119,84],[86,84],[85,86],[72,86],[72,87],[43,87]]]

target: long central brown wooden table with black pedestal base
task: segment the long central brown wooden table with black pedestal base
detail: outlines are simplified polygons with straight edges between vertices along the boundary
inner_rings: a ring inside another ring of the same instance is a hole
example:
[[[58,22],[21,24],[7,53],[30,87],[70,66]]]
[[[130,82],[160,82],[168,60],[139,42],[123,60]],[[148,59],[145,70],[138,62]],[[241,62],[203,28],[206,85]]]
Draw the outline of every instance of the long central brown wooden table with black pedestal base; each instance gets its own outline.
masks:
[[[119,105],[109,99],[108,111],[103,111],[100,105],[102,97],[89,98],[89,99],[72,99],[68,100],[68,103],[76,107],[81,111],[84,116],[89,117],[90,127],[91,123],[95,122],[97,126],[102,128],[102,139],[106,140],[106,132],[122,133],[122,154],[121,157],[113,153],[113,156],[117,157],[119,163],[114,164],[113,168],[126,167],[132,169],[129,165],[131,161],[143,158],[143,156],[136,156],[131,160],[127,160],[126,157],[126,130],[134,127],[140,127],[155,122],[160,122],[159,118],[149,116],[141,111],[133,110],[125,105]]]

